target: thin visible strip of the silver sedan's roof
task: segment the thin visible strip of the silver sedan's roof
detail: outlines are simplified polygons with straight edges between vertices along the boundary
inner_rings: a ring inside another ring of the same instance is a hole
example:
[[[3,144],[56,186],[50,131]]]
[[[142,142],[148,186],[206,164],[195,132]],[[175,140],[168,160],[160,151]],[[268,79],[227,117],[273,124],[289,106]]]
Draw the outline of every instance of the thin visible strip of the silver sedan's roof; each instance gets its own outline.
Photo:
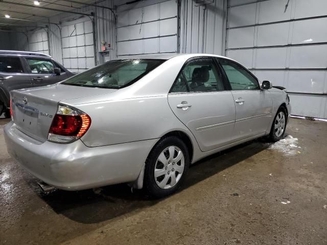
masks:
[[[219,57],[224,59],[232,60],[228,57],[221,56],[221,55],[213,55],[213,54],[177,54],[177,53],[169,53],[169,54],[146,54],[146,55],[131,55],[131,56],[120,56],[117,58],[117,60],[126,60],[126,59],[158,59],[158,60],[169,60],[173,57],[184,57],[186,59],[190,59],[193,57],[202,57],[202,56],[208,56],[208,57]]]

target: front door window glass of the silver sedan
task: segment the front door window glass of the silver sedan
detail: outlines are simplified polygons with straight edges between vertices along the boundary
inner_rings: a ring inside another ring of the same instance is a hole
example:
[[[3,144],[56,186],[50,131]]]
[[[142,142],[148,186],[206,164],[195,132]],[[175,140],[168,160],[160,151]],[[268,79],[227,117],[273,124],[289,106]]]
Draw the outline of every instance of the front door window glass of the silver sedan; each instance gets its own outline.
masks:
[[[228,60],[220,60],[232,90],[260,89],[258,81],[242,66]]]

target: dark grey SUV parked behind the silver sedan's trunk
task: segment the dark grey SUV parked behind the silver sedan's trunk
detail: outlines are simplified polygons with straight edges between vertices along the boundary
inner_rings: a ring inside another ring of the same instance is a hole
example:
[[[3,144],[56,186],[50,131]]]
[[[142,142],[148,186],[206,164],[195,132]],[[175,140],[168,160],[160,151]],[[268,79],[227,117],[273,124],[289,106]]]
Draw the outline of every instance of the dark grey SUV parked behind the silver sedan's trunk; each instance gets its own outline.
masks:
[[[49,55],[0,50],[0,115],[10,117],[11,90],[54,84],[74,75]]]

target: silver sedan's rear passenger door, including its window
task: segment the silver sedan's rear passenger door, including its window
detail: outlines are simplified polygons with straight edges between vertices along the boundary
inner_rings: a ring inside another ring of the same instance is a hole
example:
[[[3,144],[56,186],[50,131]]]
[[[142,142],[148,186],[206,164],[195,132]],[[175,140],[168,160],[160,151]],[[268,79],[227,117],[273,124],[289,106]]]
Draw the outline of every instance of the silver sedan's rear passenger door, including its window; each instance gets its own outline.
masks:
[[[201,151],[211,151],[231,142],[235,104],[214,59],[186,62],[170,93],[169,105],[193,133]]]

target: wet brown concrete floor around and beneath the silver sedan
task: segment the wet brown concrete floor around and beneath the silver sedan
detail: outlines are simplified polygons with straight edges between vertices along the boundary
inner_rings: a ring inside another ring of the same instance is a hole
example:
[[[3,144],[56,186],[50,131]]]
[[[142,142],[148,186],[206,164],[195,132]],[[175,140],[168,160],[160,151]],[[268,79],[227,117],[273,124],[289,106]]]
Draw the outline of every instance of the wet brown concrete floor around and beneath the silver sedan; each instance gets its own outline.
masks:
[[[291,119],[294,156],[256,140],[206,158],[156,201],[126,185],[43,194],[0,127],[1,244],[327,244],[325,122]]]

